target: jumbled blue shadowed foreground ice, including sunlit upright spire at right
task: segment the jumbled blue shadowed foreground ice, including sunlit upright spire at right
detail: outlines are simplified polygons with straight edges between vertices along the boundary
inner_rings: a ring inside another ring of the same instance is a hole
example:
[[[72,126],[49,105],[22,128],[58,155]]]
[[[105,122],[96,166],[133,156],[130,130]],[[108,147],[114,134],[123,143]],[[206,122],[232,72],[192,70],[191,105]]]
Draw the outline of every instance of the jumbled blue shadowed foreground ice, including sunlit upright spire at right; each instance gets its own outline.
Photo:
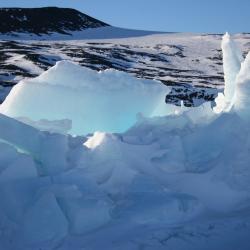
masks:
[[[241,64],[228,42],[225,88],[233,92],[218,97],[216,112],[207,103],[140,115],[124,133],[76,137],[1,114],[0,249],[249,250],[250,57]]]

